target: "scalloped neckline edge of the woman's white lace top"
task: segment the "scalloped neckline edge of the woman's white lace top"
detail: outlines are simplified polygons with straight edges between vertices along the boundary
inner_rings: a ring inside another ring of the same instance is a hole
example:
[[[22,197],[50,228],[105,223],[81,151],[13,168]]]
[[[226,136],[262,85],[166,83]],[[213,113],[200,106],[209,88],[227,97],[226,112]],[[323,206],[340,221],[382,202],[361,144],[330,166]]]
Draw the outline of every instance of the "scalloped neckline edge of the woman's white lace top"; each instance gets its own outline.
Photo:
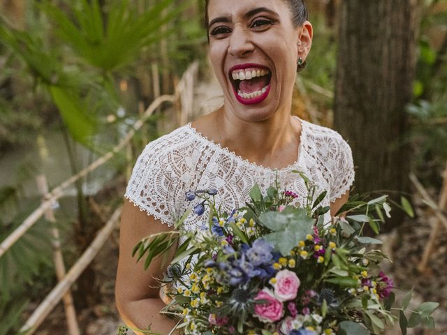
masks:
[[[234,151],[231,151],[227,147],[223,147],[219,142],[214,142],[213,140],[210,140],[208,137],[206,137],[205,135],[200,133],[200,131],[198,131],[196,128],[194,128],[192,126],[191,122],[186,124],[186,128],[188,128],[189,131],[191,131],[191,133],[193,133],[193,135],[196,135],[197,137],[199,137],[200,140],[203,140],[203,141],[207,142],[207,144],[209,144],[210,147],[214,147],[215,149],[218,149],[219,151],[225,152],[228,156],[230,156],[231,158],[235,159],[236,161],[239,161],[240,163],[242,163],[244,165],[249,165],[252,168],[268,170],[270,172],[281,172],[281,171],[290,170],[291,168],[296,168],[300,164],[300,160],[301,160],[301,156],[302,156],[302,149],[303,149],[302,140],[304,139],[305,122],[306,121],[300,119],[299,117],[297,117],[295,115],[293,115],[293,117],[298,119],[298,121],[300,121],[300,124],[301,124],[300,144],[298,145],[298,158],[296,159],[295,162],[289,164],[285,168],[280,168],[280,169],[269,168],[267,166],[263,166],[261,164],[249,161],[247,158],[243,158],[242,156],[235,154]]]

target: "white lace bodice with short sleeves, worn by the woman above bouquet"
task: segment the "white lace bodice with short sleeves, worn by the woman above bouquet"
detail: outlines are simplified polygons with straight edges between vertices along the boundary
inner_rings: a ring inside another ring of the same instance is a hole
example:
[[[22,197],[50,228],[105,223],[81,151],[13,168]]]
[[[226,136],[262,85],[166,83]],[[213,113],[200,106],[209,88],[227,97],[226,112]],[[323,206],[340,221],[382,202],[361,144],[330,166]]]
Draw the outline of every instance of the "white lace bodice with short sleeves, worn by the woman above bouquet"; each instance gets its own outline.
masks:
[[[323,206],[330,205],[349,190],[354,180],[351,148],[330,128],[300,120],[302,132],[298,160],[281,170],[251,163],[198,133],[191,124],[147,144],[133,168],[125,197],[148,214],[168,225],[199,201],[187,202],[186,191],[216,188],[217,204],[231,211],[244,206],[254,184],[262,191],[274,184],[299,195],[304,204],[305,184],[293,170],[304,172],[318,192],[328,191]],[[192,213],[184,221],[188,230],[198,230],[207,220]],[[330,221],[326,214],[325,222]]]

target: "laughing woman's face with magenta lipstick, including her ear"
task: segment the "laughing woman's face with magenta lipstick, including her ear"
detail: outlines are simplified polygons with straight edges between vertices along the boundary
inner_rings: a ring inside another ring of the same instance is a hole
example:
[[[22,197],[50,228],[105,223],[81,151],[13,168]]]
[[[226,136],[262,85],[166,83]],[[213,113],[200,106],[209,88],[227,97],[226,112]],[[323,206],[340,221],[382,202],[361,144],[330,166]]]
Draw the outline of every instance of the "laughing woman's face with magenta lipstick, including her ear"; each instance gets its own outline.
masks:
[[[210,0],[210,59],[226,110],[245,121],[291,108],[298,57],[305,60],[312,25],[294,27],[283,0]]]

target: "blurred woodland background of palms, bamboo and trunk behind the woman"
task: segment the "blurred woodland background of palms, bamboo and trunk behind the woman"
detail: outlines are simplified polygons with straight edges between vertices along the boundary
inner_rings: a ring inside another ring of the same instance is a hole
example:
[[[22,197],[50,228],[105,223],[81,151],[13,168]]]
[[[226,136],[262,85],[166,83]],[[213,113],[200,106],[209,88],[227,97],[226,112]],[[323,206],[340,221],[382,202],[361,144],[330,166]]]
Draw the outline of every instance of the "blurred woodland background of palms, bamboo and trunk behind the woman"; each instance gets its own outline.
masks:
[[[135,159],[222,102],[204,2],[0,0],[0,335],[116,334]],[[447,334],[447,1],[307,3],[293,113],[348,140],[352,194],[393,199],[387,271],[441,303],[436,329],[412,334]]]

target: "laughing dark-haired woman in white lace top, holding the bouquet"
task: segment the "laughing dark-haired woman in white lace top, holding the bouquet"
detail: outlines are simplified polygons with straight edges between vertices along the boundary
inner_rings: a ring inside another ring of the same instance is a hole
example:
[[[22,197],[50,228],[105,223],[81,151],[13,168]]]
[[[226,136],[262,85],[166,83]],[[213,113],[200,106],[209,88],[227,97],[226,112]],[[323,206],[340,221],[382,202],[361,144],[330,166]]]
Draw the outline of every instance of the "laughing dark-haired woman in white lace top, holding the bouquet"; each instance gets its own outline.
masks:
[[[244,204],[251,186],[266,189],[278,177],[300,195],[299,203],[305,186],[292,171],[300,170],[329,191],[323,204],[334,215],[354,177],[351,149],[339,134],[291,117],[295,69],[304,67],[312,45],[303,0],[209,0],[206,6],[210,59],[224,104],[147,145],[122,214],[117,306],[129,325],[152,324],[162,334],[175,325],[158,313],[164,304],[154,278],[163,278],[165,269],[156,260],[144,271],[131,251],[142,237],[173,229],[191,207],[186,191],[216,188],[217,201],[230,211]],[[185,225],[196,230],[201,223],[190,214]]]

